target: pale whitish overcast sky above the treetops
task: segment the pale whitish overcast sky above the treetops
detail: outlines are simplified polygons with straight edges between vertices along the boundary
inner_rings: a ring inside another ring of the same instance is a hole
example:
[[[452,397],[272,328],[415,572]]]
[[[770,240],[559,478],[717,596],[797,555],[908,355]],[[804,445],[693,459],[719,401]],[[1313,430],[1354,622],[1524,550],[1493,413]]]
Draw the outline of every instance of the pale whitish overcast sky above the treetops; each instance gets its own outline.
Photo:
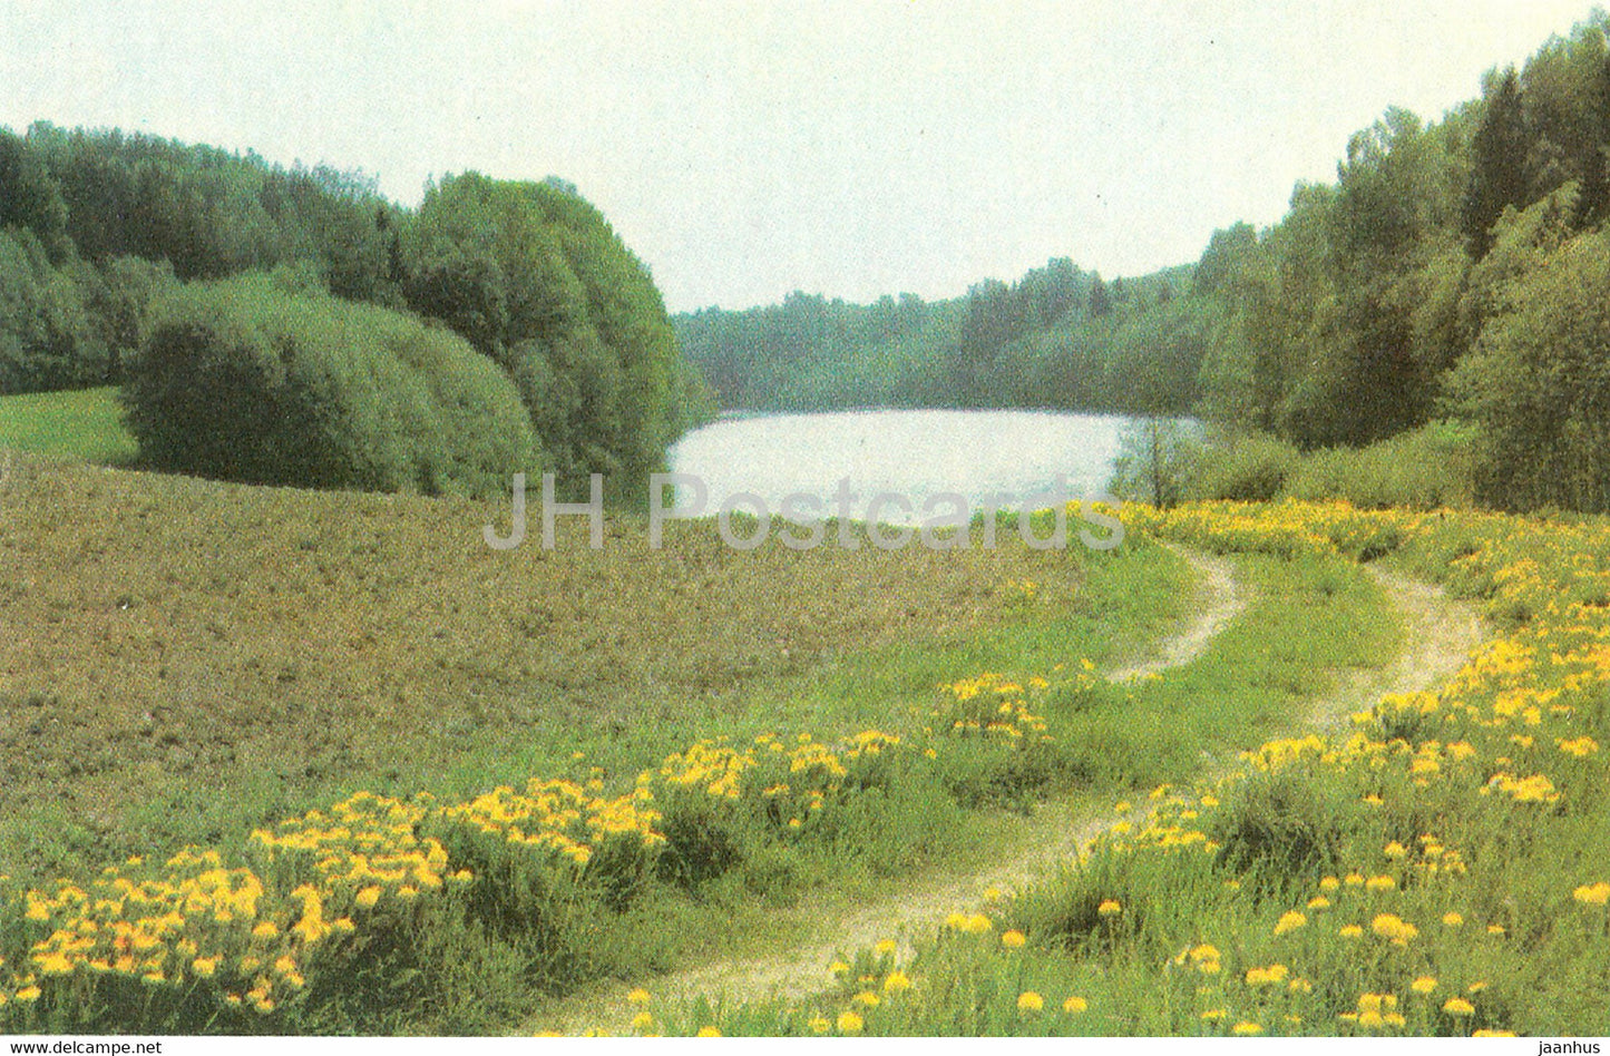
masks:
[[[0,0],[0,126],[375,175],[560,175],[671,311],[1195,261],[1388,106],[1480,93],[1587,0]]]

